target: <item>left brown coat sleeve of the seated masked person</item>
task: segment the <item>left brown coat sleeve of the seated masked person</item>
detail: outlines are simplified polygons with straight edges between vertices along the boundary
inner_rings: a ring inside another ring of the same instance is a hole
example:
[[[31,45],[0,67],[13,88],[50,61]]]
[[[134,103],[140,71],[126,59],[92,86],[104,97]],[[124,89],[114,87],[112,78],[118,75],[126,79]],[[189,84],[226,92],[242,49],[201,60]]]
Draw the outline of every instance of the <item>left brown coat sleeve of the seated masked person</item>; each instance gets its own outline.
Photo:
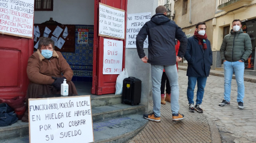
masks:
[[[28,79],[36,84],[52,84],[54,83],[54,79],[47,75],[43,75],[39,72],[40,70],[40,62],[34,56],[30,56],[28,59],[27,66],[27,75]]]

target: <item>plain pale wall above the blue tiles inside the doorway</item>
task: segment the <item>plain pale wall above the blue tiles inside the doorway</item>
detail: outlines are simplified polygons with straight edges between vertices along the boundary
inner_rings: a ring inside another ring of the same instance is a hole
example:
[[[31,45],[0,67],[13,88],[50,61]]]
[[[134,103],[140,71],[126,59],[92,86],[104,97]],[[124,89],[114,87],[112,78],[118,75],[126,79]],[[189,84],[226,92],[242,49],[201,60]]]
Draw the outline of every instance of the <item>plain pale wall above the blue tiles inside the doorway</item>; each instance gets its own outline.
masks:
[[[53,18],[63,25],[94,25],[93,0],[54,0],[53,11],[35,11],[34,23]]]

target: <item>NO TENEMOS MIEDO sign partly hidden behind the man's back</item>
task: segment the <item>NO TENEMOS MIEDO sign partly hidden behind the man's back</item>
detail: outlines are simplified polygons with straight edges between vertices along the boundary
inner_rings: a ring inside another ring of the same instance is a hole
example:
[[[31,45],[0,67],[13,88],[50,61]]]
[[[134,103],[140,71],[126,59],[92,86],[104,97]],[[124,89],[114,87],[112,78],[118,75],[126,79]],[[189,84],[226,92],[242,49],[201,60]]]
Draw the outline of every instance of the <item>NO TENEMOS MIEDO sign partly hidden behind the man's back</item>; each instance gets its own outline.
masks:
[[[126,24],[126,48],[136,48],[136,37],[142,26],[151,19],[149,13],[128,14]],[[148,48],[148,37],[144,41],[143,48]]]

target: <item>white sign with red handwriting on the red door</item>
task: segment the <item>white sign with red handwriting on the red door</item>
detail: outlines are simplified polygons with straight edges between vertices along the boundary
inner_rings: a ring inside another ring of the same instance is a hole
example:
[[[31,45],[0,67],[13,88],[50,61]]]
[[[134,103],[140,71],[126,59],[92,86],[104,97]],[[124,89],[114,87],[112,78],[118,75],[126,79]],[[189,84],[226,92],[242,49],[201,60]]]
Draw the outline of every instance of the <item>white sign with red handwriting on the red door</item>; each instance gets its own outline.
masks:
[[[123,63],[123,41],[104,39],[103,74],[120,74]]]

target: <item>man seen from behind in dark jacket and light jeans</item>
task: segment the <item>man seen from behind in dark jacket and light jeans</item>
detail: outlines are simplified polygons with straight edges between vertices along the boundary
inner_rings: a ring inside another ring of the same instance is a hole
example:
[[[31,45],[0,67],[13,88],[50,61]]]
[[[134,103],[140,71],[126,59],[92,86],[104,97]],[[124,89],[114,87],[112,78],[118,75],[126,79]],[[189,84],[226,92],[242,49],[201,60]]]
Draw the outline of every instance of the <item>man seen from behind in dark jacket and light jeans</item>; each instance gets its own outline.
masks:
[[[187,37],[181,28],[170,21],[166,16],[167,10],[164,6],[159,6],[155,10],[149,22],[140,29],[136,38],[137,51],[140,59],[144,63],[151,63],[151,78],[152,78],[152,93],[153,93],[153,112],[152,114],[143,115],[144,118],[160,122],[160,108],[161,108],[161,77],[163,69],[170,82],[171,87],[171,108],[172,120],[182,120],[184,115],[179,113],[180,105],[179,86],[178,86],[178,72],[176,68],[176,61],[180,61],[186,53]],[[148,57],[143,50],[143,42],[148,35],[149,47]],[[178,39],[180,50],[178,56],[175,51],[175,38]]]

